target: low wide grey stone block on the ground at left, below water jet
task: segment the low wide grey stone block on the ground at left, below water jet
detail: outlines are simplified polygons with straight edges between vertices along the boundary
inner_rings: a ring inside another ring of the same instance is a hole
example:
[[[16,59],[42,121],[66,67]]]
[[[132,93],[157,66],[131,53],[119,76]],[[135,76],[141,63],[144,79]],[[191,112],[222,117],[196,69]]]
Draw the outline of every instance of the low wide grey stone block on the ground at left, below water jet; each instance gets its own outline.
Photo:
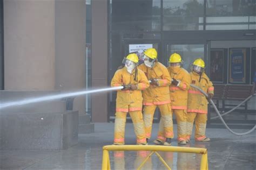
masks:
[[[64,150],[78,143],[78,111],[0,114],[0,150]]]

